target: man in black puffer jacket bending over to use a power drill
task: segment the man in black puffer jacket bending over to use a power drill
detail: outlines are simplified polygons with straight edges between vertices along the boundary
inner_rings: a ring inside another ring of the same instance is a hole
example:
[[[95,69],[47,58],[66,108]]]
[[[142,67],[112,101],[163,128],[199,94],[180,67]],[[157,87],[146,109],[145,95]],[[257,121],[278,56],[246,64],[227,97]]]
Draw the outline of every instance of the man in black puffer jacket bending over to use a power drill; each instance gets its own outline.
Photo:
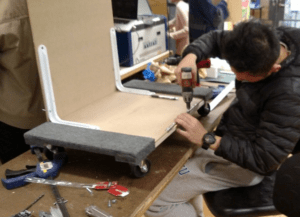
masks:
[[[233,31],[211,31],[185,49],[176,73],[224,58],[236,75],[236,100],[214,134],[189,114],[176,118],[177,132],[199,148],[147,216],[203,216],[189,203],[197,195],[258,184],[292,153],[300,140],[299,34],[248,21]]]

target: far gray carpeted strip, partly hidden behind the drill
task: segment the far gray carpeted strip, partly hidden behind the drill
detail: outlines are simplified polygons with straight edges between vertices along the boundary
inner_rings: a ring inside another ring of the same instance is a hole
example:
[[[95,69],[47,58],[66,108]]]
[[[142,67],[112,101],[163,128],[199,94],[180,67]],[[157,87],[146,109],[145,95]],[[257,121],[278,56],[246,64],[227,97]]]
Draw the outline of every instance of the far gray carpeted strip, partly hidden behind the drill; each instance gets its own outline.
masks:
[[[133,79],[123,84],[124,87],[150,90],[158,93],[173,94],[181,96],[181,87],[177,84],[163,84],[157,82],[149,82],[144,80]],[[209,100],[213,93],[211,88],[196,87],[194,88],[194,97]]]

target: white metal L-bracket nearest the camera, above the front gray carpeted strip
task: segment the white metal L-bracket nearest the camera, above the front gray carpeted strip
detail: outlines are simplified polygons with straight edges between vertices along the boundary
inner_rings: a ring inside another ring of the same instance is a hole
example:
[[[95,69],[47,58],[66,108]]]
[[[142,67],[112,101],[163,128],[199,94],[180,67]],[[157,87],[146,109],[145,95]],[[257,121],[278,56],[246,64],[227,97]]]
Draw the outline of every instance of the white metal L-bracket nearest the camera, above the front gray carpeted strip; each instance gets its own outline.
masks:
[[[83,124],[83,123],[78,123],[73,121],[65,121],[60,119],[56,110],[56,103],[55,103],[54,91],[52,86],[48,52],[45,45],[40,45],[38,47],[38,55],[39,55],[39,63],[40,63],[41,74],[42,74],[42,81],[44,86],[46,112],[48,114],[49,120],[52,123],[57,123],[57,124],[64,124],[64,125],[69,125],[74,127],[100,130],[98,126]]]

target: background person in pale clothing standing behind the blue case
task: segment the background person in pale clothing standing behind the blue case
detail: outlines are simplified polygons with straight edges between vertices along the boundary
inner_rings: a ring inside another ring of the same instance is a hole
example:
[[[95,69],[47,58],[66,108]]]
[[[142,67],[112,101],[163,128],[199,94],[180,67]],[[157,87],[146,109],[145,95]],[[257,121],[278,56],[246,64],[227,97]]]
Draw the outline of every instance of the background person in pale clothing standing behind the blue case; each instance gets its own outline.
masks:
[[[182,0],[170,0],[176,5],[176,14],[174,19],[170,20],[168,37],[176,41],[175,56],[181,56],[183,49],[189,44],[189,5]]]

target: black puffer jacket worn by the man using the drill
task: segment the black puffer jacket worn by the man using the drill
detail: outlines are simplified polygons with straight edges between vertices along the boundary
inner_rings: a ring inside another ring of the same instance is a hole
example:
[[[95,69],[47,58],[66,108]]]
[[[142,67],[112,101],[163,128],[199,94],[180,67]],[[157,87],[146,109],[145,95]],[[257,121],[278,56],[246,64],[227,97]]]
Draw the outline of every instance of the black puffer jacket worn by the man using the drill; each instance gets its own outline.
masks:
[[[215,31],[200,37],[184,55],[221,58],[224,34]],[[280,71],[259,82],[236,82],[236,100],[216,130],[222,137],[216,155],[265,175],[293,151],[300,139],[299,34],[299,29],[278,29],[280,41],[292,51]]]

